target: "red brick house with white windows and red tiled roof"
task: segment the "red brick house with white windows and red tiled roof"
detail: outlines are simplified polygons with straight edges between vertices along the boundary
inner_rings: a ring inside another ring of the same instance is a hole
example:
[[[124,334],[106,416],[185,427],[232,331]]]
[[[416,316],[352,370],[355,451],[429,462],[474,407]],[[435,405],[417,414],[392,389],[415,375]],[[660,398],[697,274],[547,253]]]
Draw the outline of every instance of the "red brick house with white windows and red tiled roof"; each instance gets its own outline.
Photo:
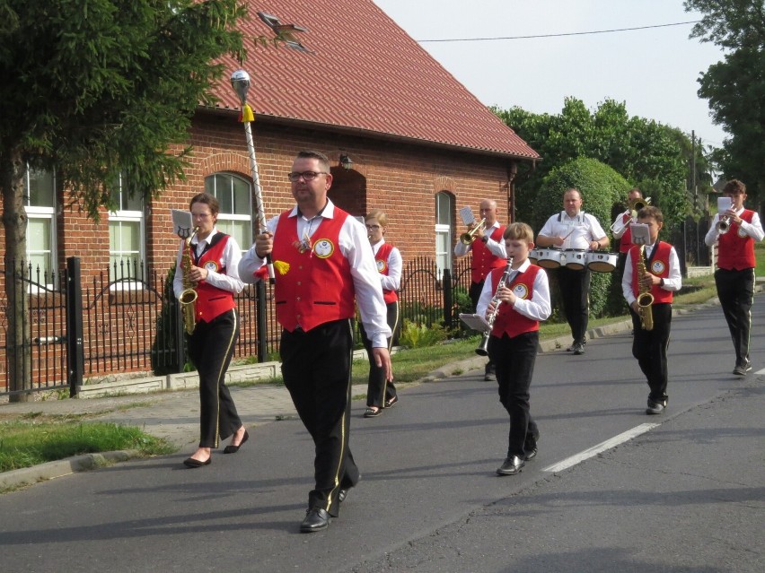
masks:
[[[497,200],[501,221],[510,220],[517,162],[538,154],[372,0],[247,4],[248,61],[225,61],[215,86],[220,104],[198,109],[188,179],[147,203],[119,196],[119,211],[95,224],[67,204],[54,173],[31,172],[28,256],[35,268],[56,273],[67,257],[80,256],[84,281],[125,262],[166,273],[178,248],[170,210],[187,208],[202,189],[221,202],[218,228],[250,247],[251,169],[240,102],[228,82],[240,67],[252,78],[248,102],[267,217],[294,204],[286,173],[296,152],[314,149],[333,164],[330,198],[354,215],[388,213],[386,239],[405,261],[428,255],[439,270],[451,268],[464,230],[459,209],[477,212],[484,197]],[[303,49],[252,40],[274,37],[276,21],[306,29],[294,34]]]

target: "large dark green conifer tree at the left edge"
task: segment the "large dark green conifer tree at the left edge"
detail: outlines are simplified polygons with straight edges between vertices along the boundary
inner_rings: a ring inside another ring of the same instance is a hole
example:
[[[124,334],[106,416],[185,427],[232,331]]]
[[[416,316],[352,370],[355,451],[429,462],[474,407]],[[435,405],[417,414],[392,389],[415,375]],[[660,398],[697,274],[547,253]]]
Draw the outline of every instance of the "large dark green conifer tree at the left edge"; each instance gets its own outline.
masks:
[[[244,15],[237,0],[0,4],[6,269],[26,257],[27,169],[55,169],[71,204],[94,220],[120,180],[128,195],[149,198],[183,178],[191,117],[215,102],[216,58],[243,56],[236,26]],[[18,277],[6,281],[7,341],[29,352],[22,288]],[[8,372],[12,390],[30,378],[30,360],[18,363],[27,371]]]

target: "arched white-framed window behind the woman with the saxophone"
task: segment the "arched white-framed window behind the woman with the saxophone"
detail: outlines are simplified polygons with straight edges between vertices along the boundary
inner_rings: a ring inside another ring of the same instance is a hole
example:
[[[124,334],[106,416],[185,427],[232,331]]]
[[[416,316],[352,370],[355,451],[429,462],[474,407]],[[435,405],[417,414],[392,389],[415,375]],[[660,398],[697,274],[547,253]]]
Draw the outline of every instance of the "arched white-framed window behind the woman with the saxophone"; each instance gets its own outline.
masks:
[[[236,239],[244,254],[252,245],[250,181],[233,173],[215,173],[205,178],[205,191],[220,204],[218,230]]]

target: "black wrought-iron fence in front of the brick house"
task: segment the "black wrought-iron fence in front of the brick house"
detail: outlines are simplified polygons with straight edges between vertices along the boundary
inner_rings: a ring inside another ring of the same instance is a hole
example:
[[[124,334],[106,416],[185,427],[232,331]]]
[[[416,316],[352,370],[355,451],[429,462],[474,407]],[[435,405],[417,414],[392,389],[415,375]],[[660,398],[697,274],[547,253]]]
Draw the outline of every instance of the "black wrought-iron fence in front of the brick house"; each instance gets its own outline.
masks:
[[[87,378],[187,369],[173,273],[119,264],[81,283],[77,257],[50,275],[6,261],[0,273],[0,395],[67,387],[74,395]],[[401,317],[461,332],[458,314],[470,310],[469,282],[469,257],[444,272],[431,257],[410,259],[402,273]],[[281,329],[272,300],[272,285],[262,282],[236,296],[241,333],[234,360],[276,359]],[[11,320],[20,325],[13,340]]]

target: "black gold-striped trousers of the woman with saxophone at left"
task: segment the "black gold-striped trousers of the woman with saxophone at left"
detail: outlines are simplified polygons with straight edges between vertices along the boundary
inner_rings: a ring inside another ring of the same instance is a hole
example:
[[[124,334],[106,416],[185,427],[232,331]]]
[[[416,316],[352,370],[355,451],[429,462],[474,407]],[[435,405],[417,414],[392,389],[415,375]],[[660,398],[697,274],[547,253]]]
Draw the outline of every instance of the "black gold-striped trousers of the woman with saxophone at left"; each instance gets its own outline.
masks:
[[[218,447],[242,427],[225,372],[239,337],[239,317],[229,310],[210,322],[200,321],[189,337],[189,356],[199,373],[199,447]]]

